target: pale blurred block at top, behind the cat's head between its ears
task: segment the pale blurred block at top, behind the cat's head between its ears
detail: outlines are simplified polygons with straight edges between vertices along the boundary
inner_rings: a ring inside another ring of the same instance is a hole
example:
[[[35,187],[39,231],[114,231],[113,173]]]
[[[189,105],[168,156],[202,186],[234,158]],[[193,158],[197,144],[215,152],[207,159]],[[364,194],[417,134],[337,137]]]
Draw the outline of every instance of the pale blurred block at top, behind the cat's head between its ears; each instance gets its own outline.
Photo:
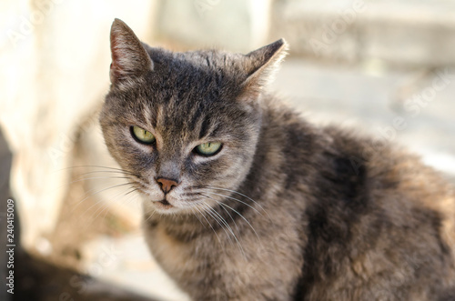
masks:
[[[268,44],[272,0],[160,1],[157,38],[247,53]]]

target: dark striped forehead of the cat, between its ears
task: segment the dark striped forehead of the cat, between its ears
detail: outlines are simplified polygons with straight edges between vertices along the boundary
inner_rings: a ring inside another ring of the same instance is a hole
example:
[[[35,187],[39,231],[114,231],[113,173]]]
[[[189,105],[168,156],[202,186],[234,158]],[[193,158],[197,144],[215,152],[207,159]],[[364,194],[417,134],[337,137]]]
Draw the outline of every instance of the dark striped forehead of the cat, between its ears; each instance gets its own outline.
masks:
[[[169,121],[222,115],[227,106],[235,106],[240,90],[241,80],[226,67],[231,60],[215,51],[158,53],[154,70],[142,84],[142,101],[153,115]]]

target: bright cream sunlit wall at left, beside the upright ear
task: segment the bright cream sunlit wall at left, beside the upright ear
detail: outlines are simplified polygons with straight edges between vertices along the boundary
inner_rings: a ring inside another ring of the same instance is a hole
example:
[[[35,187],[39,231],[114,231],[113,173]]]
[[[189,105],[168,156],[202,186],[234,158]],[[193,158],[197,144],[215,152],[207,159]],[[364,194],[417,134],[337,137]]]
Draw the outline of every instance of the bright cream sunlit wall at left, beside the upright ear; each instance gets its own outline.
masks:
[[[96,110],[108,88],[113,19],[122,18],[137,35],[149,37],[156,4],[0,2],[0,125],[14,154],[11,189],[25,246],[35,246],[56,223],[77,125]]]

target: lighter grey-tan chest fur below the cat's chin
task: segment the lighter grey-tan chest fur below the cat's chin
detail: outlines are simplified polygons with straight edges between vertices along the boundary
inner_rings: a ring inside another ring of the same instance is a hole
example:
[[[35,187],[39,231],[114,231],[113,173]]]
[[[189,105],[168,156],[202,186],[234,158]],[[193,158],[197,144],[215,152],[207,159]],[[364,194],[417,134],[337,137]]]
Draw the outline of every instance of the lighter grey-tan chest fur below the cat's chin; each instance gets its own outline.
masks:
[[[286,236],[279,226],[260,238],[238,235],[238,244],[220,229],[189,241],[169,235],[159,223],[145,222],[144,229],[157,262],[194,300],[288,300],[303,264],[300,247],[292,246],[300,241],[293,229]]]

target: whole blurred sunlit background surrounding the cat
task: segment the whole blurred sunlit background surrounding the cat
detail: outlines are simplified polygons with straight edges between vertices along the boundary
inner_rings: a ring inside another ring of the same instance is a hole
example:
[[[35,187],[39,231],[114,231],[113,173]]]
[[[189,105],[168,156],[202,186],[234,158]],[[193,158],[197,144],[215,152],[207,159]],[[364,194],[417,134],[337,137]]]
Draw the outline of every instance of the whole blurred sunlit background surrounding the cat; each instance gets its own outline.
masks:
[[[115,17],[178,51],[248,53],[284,37],[272,92],[455,182],[454,0],[2,0],[0,249],[11,198],[15,294],[4,285],[1,300],[187,299],[148,254],[137,196],[109,174],[97,113]]]

